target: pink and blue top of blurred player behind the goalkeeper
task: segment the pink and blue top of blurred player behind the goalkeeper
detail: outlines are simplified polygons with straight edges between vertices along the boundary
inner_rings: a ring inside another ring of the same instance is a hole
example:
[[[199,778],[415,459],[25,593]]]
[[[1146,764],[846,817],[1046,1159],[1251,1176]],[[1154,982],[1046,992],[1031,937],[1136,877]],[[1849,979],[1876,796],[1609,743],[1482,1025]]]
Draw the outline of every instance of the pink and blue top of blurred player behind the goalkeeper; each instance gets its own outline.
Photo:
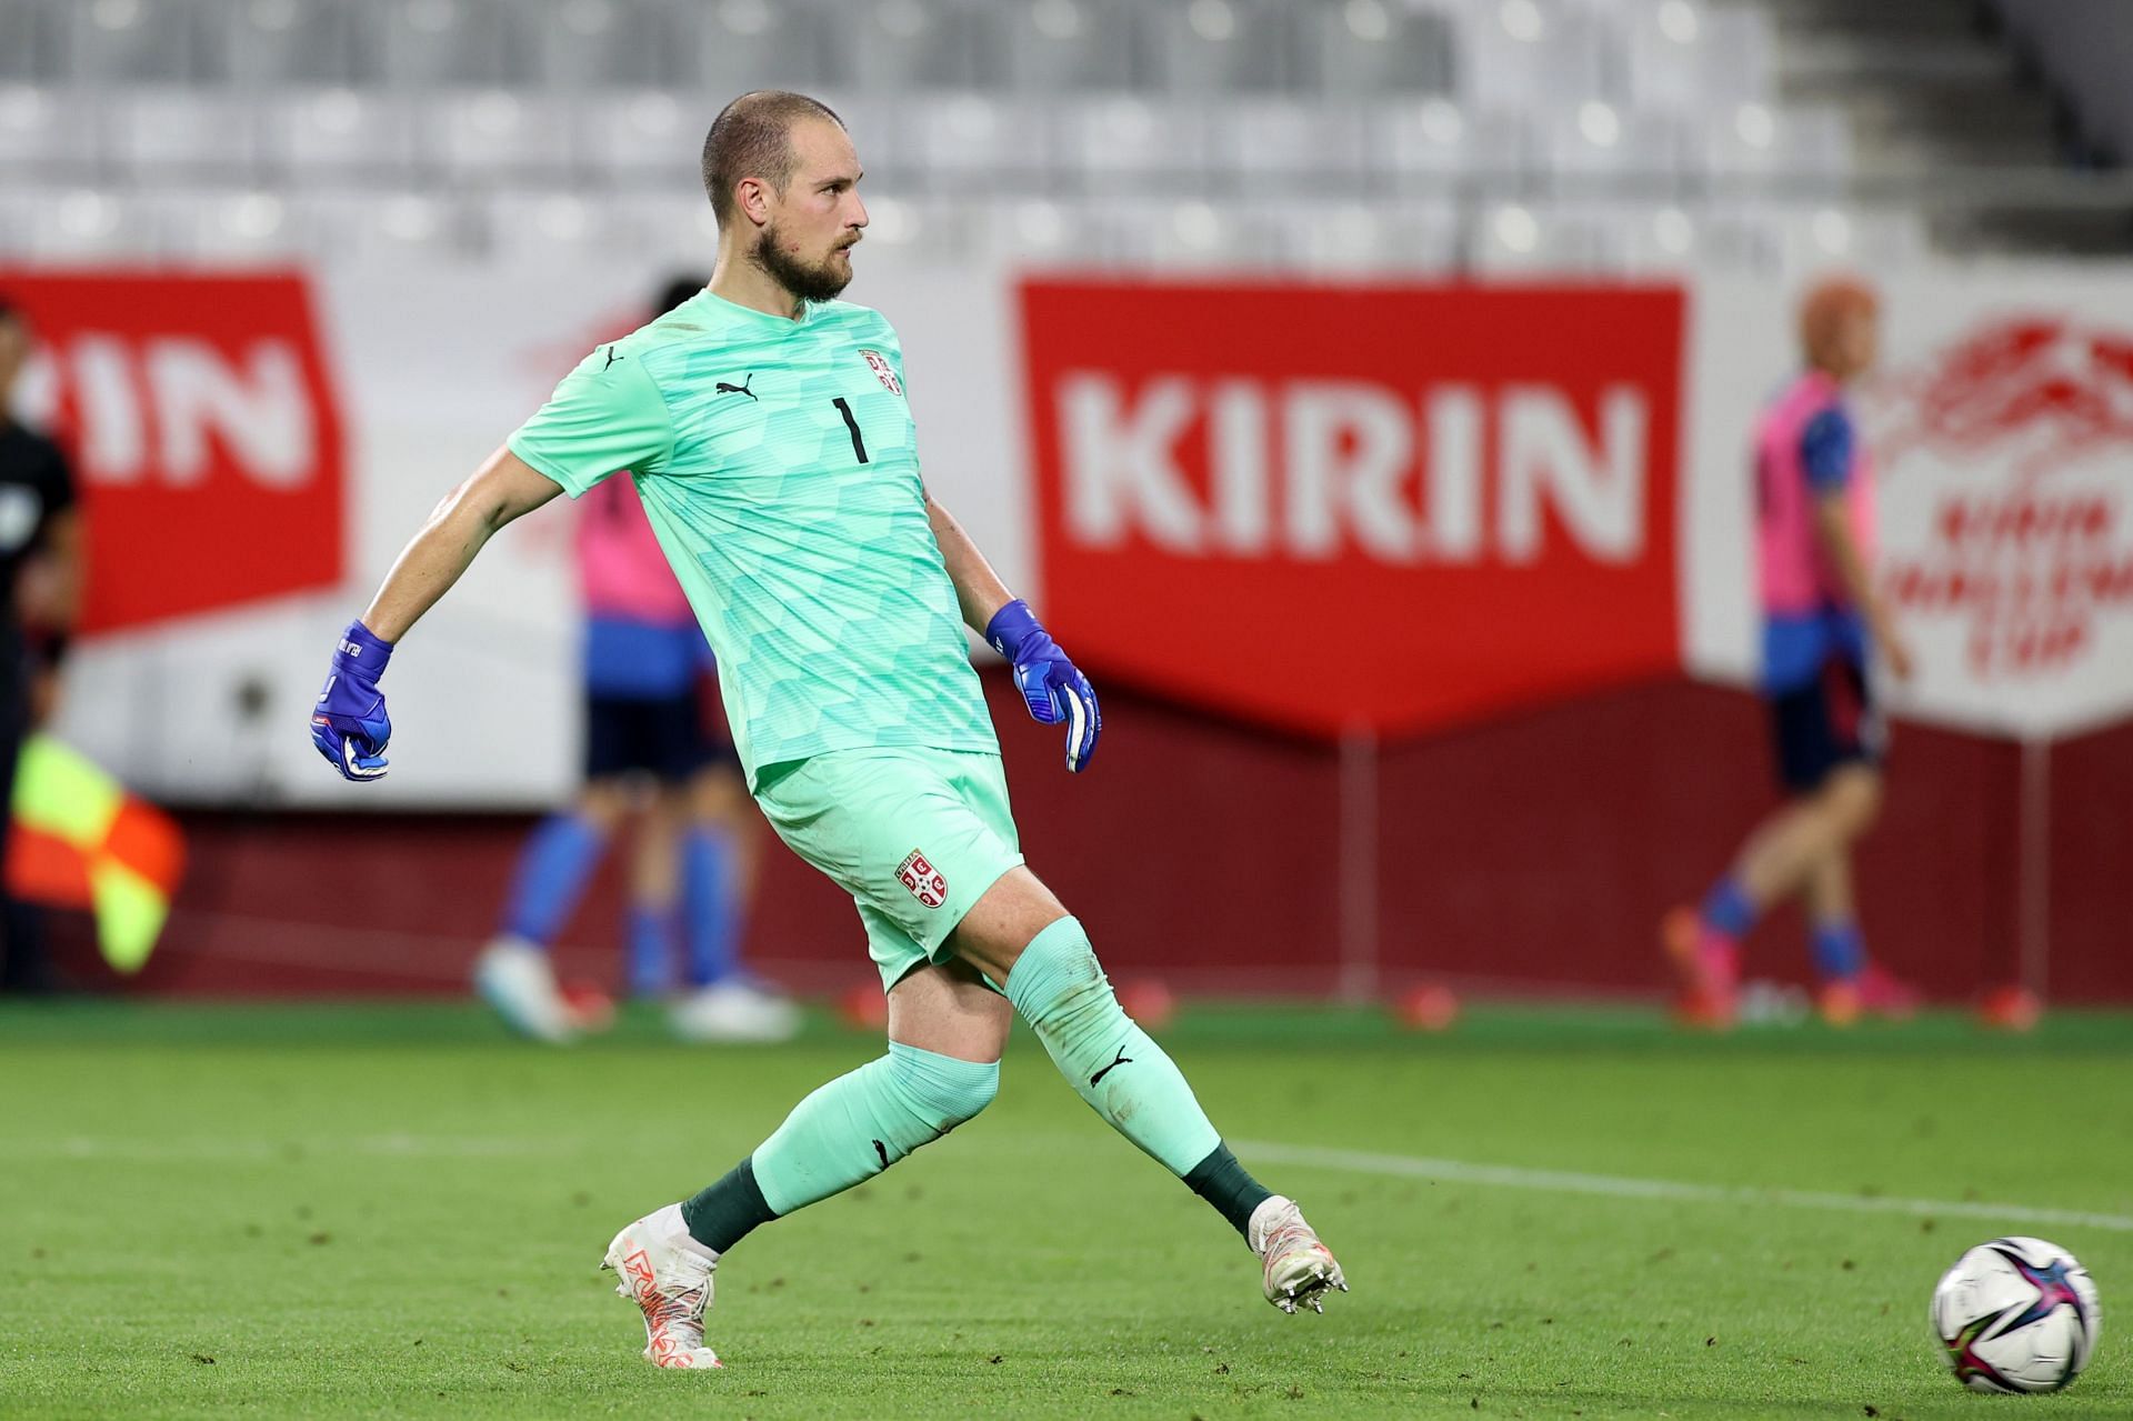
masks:
[[[608,478],[580,499],[574,550],[587,691],[616,700],[693,691],[710,646],[629,478]]]

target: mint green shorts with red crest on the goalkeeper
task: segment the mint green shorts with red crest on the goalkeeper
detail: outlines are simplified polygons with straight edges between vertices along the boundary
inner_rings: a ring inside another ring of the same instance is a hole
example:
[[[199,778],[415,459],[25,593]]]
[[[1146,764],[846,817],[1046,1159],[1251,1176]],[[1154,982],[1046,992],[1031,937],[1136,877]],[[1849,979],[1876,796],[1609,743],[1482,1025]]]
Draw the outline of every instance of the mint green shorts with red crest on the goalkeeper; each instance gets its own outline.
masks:
[[[830,751],[770,766],[755,802],[793,853],[851,894],[883,990],[943,962],[962,915],[1022,862],[1000,757]]]

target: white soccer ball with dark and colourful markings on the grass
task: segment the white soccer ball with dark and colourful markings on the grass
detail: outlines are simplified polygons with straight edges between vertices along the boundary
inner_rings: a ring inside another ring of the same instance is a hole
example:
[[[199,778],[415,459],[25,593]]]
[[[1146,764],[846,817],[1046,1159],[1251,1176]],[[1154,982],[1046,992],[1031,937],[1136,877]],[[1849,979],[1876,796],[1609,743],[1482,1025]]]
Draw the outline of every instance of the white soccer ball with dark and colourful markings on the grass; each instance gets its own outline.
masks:
[[[2058,1391],[2088,1366],[2103,1327],[2097,1284],[2041,1238],[1996,1238],[1932,1289],[1941,1361],[1973,1391]]]

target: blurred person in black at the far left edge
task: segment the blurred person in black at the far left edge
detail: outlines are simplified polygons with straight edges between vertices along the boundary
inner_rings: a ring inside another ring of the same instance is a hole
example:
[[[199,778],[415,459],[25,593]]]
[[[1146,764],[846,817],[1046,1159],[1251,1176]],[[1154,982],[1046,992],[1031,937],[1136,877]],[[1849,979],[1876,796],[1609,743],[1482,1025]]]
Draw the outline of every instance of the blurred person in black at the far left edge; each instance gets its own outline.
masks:
[[[0,990],[51,990],[43,915],[6,888],[15,764],[51,717],[81,610],[81,510],[58,444],[15,422],[30,318],[0,294]]]

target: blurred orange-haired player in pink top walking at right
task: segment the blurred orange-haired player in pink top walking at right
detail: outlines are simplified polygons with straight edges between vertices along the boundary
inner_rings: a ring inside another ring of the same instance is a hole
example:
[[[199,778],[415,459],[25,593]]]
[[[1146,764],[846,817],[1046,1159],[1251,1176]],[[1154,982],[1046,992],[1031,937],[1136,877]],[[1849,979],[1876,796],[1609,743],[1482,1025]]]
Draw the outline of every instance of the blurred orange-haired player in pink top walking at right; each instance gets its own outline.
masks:
[[[1666,920],[1691,1024],[1734,1022],[1741,939],[1796,894],[1828,1022],[1915,1009],[1915,994],[1869,960],[1851,896],[1851,845],[1881,809],[1888,743],[1869,661],[1879,655],[1898,681],[1911,676],[1911,651],[1873,582],[1873,457],[1845,405],[1845,388],[1875,363],[1879,331],[1873,290],[1847,277],[1815,286],[1800,305],[1807,369],[1755,427],[1762,691],[1792,798],[1749,834],[1702,909]]]

